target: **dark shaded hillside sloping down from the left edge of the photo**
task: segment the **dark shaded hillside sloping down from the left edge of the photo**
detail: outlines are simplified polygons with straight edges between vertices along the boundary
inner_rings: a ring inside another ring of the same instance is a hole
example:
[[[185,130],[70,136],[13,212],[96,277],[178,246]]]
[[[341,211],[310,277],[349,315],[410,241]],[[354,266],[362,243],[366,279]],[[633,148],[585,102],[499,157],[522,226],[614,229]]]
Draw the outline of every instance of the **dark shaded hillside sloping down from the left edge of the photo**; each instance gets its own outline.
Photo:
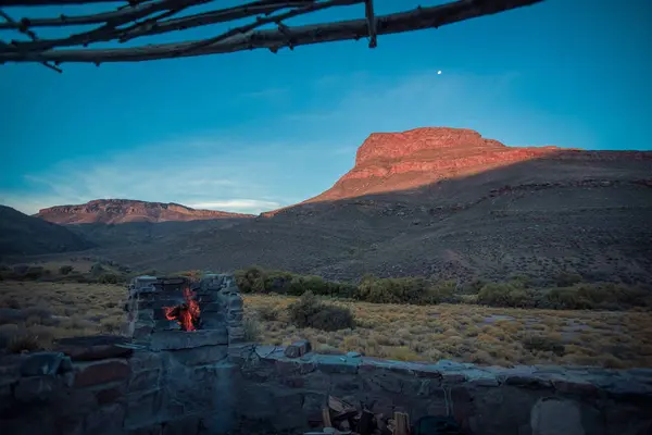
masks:
[[[0,256],[70,252],[93,246],[63,226],[0,206]]]

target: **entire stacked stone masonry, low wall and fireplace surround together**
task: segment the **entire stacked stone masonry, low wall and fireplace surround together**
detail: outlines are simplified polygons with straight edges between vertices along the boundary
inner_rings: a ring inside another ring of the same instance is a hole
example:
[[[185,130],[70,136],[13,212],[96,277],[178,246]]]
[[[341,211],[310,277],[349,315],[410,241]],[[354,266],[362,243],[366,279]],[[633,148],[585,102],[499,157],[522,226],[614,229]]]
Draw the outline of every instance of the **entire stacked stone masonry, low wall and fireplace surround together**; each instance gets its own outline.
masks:
[[[316,355],[306,341],[255,346],[243,343],[233,276],[206,276],[197,295],[200,331],[156,319],[161,301],[178,295],[141,295],[130,304],[133,336],[70,338],[57,351],[0,358],[0,432],[302,434],[334,395],[412,421],[450,414],[473,435],[652,433],[652,369],[486,368]],[[564,426],[546,432],[543,423]]]

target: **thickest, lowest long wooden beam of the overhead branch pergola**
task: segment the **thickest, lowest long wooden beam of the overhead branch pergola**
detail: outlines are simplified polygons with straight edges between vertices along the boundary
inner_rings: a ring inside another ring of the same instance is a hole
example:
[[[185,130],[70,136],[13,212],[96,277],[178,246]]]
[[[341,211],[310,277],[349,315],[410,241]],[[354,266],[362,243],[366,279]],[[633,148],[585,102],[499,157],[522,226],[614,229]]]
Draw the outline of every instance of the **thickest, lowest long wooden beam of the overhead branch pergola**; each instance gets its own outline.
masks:
[[[436,28],[464,20],[491,15],[506,10],[539,3],[543,0],[457,0],[454,2],[388,15],[376,16],[377,34],[390,35],[403,32]],[[188,55],[228,53],[252,49],[277,50],[281,47],[298,47],[338,40],[360,39],[368,35],[366,20],[351,20],[278,29],[255,30],[234,35],[216,44],[191,52],[184,50],[200,41],[160,44],[124,49],[48,50],[32,53],[27,59],[21,51],[0,51],[0,62],[139,62]]]

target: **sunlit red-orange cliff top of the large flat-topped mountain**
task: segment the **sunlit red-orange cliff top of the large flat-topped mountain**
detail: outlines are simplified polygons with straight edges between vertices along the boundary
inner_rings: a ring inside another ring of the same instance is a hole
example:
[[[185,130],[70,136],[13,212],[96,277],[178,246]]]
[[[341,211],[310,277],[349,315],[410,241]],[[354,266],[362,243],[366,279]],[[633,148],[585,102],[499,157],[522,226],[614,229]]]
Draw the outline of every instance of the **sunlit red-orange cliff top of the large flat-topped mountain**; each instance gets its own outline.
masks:
[[[559,147],[507,147],[466,128],[429,127],[374,133],[362,144],[355,166],[330,189],[305,202],[411,189],[530,160],[652,160],[642,151],[585,151]]]

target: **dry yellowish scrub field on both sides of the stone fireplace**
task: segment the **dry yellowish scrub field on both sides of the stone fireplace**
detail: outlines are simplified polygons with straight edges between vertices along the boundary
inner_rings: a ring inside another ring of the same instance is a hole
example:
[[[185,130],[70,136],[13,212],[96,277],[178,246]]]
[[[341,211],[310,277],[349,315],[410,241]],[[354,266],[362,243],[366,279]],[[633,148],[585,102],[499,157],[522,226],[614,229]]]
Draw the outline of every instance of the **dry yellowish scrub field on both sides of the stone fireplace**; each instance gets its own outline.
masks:
[[[0,339],[48,348],[75,335],[118,333],[125,288],[116,285],[0,282]],[[452,359],[478,364],[652,366],[649,311],[563,311],[473,304],[376,304],[326,300],[348,307],[355,327],[298,328],[288,306],[297,298],[244,295],[246,320],[260,343],[311,340],[317,351],[355,350],[397,360]],[[7,308],[13,310],[7,310]],[[20,309],[23,319],[13,315]],[[28,337],[28,339],[26,338]],[[20,346],[18,346],[20,348]],[[20,350],[20,349],[18,349]]]

